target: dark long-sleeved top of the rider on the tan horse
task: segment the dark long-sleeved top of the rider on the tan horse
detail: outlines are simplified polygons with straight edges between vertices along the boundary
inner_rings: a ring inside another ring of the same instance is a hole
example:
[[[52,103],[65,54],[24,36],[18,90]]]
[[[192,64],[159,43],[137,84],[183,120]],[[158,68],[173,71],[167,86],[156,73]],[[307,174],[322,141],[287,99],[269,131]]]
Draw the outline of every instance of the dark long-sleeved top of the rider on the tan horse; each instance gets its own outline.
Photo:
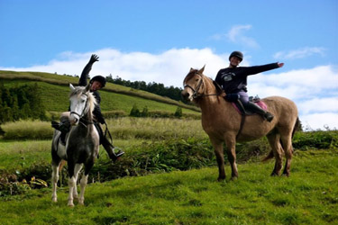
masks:
[[[226,67],[218,71],[215,81],[221,85],[226,94],[247,92],[247,76],[278,68],[278,63],[255,67]]]

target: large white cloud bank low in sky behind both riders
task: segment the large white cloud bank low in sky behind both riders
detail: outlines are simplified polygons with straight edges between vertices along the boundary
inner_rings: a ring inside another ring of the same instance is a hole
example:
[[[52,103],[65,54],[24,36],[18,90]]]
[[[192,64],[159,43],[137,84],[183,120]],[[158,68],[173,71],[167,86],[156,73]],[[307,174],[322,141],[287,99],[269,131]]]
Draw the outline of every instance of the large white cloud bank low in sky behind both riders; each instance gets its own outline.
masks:
[[[91,76],[120,76],[125,80],[162,83],[182,87],[190,67],[206,65],[205,75],[215,78],[218,70],[228,66],[230,52],[221,55],[211,49],[169,49],[160,54],[121,52],[99,49],[96,52],[63,52],[46,65],[32,67],[0,67],[1,70],[41,71],[80,75],[91,54],[99,61]],[[249,56],[250,58],[250,56]],[[245,59],[242,66],[250,66]],[[330,65],[288,71],[285,67],[249,76],[249,94],[260,97],[281,95],[297,103],[300,120],[312,130],[338,129],[338,71]]]

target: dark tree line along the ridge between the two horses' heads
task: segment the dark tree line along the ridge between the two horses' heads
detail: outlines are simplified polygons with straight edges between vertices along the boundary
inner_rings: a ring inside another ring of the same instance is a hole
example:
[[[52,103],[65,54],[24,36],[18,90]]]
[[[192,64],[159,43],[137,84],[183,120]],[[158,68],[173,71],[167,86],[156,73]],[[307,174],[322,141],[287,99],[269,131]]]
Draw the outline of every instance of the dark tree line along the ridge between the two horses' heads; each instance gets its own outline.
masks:
[[[133,89],[142,90],[146,92],[150,92],[152,94],[158,94],[160,96],[169,97],[176,101],[183,101],[181,98],[181,92],[182,88],[174,87],[173,85],[170,85],[169,87],[164,86],[160,83],[146,83],[145,81],[130,81],[130,80],[124,80],[123,78],[116,76],[116,78],[113,78],[112,75],[106,76],[106,81],[109,83],[114,83],[116,85],[123,85],[132,87]]]

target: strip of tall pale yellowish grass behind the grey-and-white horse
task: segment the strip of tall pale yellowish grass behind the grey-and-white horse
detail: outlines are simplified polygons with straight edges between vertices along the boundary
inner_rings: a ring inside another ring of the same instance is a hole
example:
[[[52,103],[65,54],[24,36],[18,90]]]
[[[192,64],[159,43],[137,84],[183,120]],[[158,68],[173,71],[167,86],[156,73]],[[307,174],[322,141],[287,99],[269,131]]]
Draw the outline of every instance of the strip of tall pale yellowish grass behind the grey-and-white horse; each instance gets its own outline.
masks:
[[[107,119],[114,139],[206,138],[200,120],[123,117]],[[15,121],[1,125],[3,139],[51,139],[50,121]],[[105,126],[103,126],[105,130]]]

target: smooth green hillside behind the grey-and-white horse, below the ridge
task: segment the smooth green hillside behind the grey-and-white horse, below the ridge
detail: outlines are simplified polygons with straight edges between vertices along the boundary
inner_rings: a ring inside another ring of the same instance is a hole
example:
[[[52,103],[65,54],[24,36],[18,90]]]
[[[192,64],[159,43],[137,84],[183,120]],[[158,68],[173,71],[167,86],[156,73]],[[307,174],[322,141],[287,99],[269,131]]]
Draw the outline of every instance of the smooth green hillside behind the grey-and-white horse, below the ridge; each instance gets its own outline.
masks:
[[[78,77],[74,76],[3,70],[0,70],[0,80],[5,85],[37,83],[41,87],[41,98],[48,112],[63,112],[68,109],[69,83],[73,85],[78,83]],[[107,83],[100,94],[103,101],[101,104],[103,112],[122,111],[128,114],[134,104],[141,111],[147,107],[149,111],[175,112],[179,106],[183,109],[183,113],[199,114],[200,112],[197,107],[192,105],[111,83]]]

